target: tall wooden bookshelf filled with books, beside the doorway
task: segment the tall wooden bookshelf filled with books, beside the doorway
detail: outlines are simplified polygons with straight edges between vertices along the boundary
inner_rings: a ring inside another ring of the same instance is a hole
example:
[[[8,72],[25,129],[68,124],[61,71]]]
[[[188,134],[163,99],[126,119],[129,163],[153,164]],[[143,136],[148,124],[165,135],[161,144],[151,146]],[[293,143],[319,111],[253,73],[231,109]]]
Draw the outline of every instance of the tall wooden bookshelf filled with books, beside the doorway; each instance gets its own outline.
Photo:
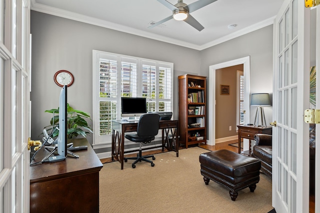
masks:
[[[206,77],[185,74],[178,81],[180,144],[206,144]]]

